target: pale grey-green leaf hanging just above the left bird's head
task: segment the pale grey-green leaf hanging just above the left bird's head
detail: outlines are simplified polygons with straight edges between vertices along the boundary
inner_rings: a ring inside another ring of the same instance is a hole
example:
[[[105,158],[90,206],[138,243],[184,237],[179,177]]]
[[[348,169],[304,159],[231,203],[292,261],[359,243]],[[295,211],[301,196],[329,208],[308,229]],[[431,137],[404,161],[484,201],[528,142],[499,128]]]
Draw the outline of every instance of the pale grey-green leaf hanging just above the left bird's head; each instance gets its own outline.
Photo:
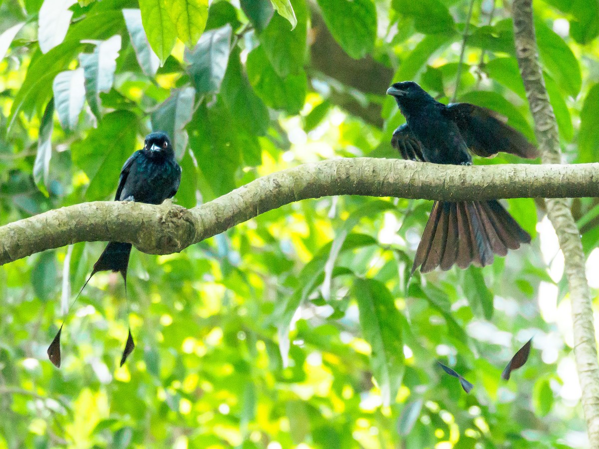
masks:
[[[177,159],[183,157],[187,147],[185,126],[193,117],[195,90],[193,87],[173,89],[171,96],[152,113],[152,128],[164,131],[171,138]]]

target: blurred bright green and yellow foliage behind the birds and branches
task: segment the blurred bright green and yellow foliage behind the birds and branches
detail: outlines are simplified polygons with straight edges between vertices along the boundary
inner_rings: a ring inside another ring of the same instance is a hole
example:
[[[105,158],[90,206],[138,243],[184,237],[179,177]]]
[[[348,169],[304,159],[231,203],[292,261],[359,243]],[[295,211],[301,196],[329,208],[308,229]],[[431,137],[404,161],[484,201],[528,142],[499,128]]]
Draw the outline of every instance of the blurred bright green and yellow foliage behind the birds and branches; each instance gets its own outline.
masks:
[[[598,160],[599,7],[534,7],[562,149]],[[113,198],[153,129],[185,207],[303,162],[396,157],[394,80],[534,139],[509,17],[492,0],[0,2],[0,225]],[[524,161],[476,160],[505,162]],[[507,203],[533,244],[410,283],[428,201],[304,201],[181,254],[134,251],[129,301],[96,275],[59,370],[47,345],[104,245],[2,266],[0,448],[585,447],[563,256],[541,202]],[[599,205],[573,212],[597,295]]]

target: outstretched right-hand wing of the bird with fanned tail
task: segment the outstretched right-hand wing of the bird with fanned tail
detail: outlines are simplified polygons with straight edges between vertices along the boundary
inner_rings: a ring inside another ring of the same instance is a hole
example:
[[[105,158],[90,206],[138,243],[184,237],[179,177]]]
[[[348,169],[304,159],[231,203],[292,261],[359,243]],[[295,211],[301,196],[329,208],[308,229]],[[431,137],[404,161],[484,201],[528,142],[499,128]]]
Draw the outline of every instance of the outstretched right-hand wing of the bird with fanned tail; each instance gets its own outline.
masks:
[[[453,103],[443,113],[458,125],[468,148],[478,156],[489,157],[503,151],[535,159],[539,151],[519,131],[506,125],[501,116],[469,103]]]

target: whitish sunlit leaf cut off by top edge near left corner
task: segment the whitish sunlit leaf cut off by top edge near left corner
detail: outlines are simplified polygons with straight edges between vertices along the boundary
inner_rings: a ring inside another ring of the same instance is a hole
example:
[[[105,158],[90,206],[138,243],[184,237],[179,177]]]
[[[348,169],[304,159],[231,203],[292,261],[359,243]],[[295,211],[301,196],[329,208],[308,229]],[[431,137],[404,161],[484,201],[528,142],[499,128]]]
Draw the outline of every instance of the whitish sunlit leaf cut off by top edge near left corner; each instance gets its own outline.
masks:
[[[38,17],[38,42],[42,53],[48,53],[65,39],[73,15],[69,8],[77,0],[44,0]]]

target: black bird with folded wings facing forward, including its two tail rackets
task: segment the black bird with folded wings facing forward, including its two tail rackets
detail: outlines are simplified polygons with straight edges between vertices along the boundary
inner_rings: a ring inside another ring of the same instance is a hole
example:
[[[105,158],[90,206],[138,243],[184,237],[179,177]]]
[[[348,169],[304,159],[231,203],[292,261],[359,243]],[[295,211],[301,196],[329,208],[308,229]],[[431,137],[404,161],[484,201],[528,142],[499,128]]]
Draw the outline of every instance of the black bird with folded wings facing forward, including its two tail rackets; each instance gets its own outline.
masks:
[[[114,201],[162,204],[165,199],[173,198],[177,193],[180,181],[181,167],[175,159],[171,141],[164,132],[153,132],[147,135],[143,150],[135,151],[123,165]],[[125,280],[126,289],[130,253],[131,243],[110,242],[98,262],[93,265],[92,274],[81,287],[81,292],[98,271],[120,272]],[[62,326],[60,329],[62,330]],[[134,346],[129,331],[121,366]],[[52,363],[60,366],[60,330],[48,348],[48,356]]]

